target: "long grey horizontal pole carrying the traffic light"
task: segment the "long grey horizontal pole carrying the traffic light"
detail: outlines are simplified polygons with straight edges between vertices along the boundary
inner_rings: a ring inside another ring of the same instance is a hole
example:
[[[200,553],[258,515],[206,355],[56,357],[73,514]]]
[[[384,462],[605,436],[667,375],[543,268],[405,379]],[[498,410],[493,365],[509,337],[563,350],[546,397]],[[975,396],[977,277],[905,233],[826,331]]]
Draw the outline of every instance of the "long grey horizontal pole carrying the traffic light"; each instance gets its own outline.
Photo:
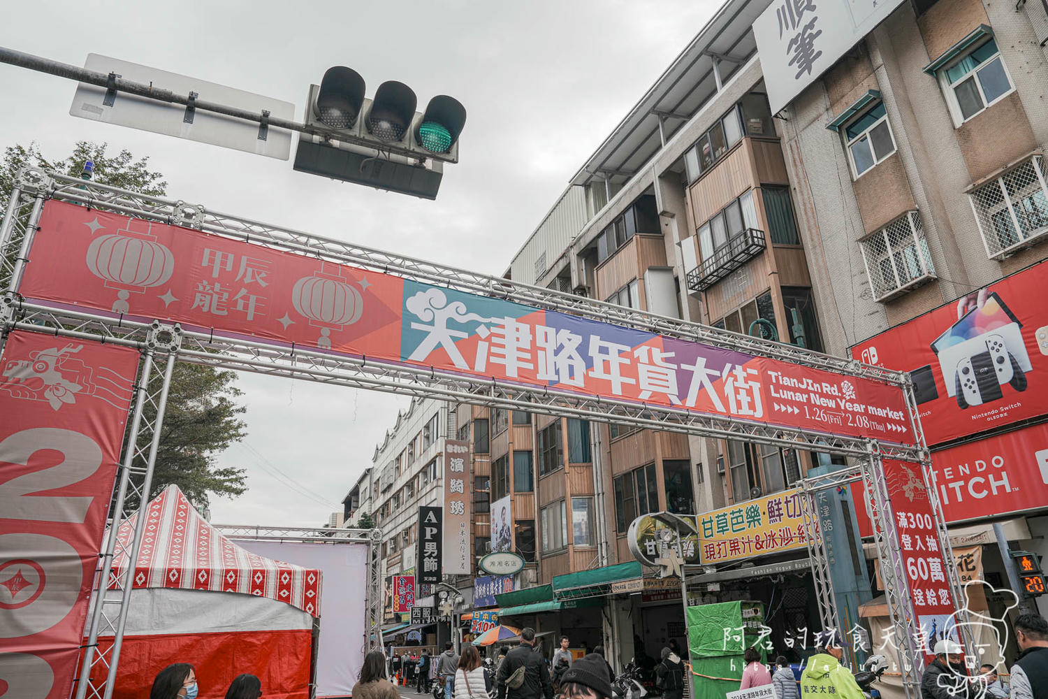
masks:
[[[375,148],[374,141],[366,140],[364,138],[355,138],[352,135],[347,134],[345,131],[330,129],[321,124],[301,124],[299,122],[272,116],[268,110],[253,112],[238,107],[231,107],[230,105],[222,105],[217,102],[191,97],[189,94],[176,94],[171,90],[165,90],[151,84],[125,80],[116,73],[104,73],[99,72],[97,70],[88,70],[87,68],[81,68],[80,66],[62,63],[60,61],[52,61],[50,59],[34,56],[31,53],[25,53],[23,51],[16,51],[3,46],[0,46],[0,63],[6,63],[20,68],[28,68],[29,70],[44,72],[49,75],[57,75],[58,78],[74,80],[79,83],[87,83],[88,85],[104,87],[106,88],[107,93],[112,93],[113,95],[117,92],[126,92],[127,94],[134,94],[139,97],[155,100],[167,104],[191,106],[192,103],[192,107],[200,111],[223,114],[225,116],[232,116],[245,122],[254,122],[266,127],[276,127],[278,129],[286,129],[288,131],[298,131],[299,133],[333,138],[340,141],[349,141],[365,148]],[[381,150],[386,153],[401,155],[407,158],[418,160],[419,162],[424,161],[427,158],[439,160],[441,162],[458,161],[457,155],[455,155],[454,152],[450,154],[428,152],[425,155],[422,155],[418,151],[402,148],[396,144],[385,144],[383,145]]]

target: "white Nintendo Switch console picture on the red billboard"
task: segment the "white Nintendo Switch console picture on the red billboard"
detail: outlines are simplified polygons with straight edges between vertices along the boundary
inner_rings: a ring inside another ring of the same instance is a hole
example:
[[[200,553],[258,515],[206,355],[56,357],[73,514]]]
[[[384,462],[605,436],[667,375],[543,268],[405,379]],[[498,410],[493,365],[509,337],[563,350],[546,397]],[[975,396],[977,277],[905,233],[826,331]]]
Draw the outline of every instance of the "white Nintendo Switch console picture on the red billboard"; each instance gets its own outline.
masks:
[[[997,293],[964,314],[932,343],[946,394],[961,409],[1004,396],[1003,387],[1025,391],[1033,370],[1022,324]]]

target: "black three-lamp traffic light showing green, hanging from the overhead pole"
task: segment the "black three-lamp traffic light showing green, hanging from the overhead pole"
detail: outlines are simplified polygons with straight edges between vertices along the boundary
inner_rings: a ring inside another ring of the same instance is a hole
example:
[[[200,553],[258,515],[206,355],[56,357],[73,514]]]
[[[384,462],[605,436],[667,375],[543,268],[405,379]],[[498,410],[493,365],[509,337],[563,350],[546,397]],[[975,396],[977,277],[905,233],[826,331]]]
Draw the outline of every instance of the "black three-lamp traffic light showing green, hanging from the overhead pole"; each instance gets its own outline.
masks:
[[[415,92],[396,81],[365,96],[364,79],[345,66],[329,68],[309,86],[306,125],[294,169],[380,190],[435,199],[445,162],[458,162],[465,108],[438,94],[424,112]]]

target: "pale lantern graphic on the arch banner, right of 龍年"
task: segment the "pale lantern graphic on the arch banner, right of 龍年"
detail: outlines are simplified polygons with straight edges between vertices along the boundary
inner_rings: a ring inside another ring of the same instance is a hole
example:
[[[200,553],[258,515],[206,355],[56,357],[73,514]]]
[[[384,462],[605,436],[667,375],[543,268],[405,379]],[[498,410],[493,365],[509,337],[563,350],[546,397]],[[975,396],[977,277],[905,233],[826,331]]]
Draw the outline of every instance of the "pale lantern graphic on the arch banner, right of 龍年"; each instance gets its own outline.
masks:
[[[294,310],[309,319],[309,325],[321,329],[316,346],[331,349],[329,334],[361,320],[364,313],[364,297],[356,287],[348,284],[342,276],[342,267],[322,262],[320,271],[311,277],[303,277],[291,289],[291,305]],[[367,288],[367,280],[356,282]]]

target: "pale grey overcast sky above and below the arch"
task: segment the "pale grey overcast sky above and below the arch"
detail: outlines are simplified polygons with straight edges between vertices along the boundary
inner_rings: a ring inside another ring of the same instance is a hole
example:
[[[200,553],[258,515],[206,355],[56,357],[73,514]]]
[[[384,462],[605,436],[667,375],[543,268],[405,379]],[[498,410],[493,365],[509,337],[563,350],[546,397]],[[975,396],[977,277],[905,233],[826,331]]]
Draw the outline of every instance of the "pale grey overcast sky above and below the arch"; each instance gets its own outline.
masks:
[[[213,210],[501,275],[568,179],[713,15],[717,0],[8,2],[0,44],[83,65],[103,53],[291,102],[333,65],[451,94],[468,112],[436,201],[289,161],[69,116],[75,85],[0,64],[0,146],[81,139],[148,155],[168,194]],[[293,146],[292,146],[293,157]],[[408,398],[244,374],[247,437],[219,457],[249,490],[213,521],[315,526]],[[288,485],[292,483],[293,487]]]

